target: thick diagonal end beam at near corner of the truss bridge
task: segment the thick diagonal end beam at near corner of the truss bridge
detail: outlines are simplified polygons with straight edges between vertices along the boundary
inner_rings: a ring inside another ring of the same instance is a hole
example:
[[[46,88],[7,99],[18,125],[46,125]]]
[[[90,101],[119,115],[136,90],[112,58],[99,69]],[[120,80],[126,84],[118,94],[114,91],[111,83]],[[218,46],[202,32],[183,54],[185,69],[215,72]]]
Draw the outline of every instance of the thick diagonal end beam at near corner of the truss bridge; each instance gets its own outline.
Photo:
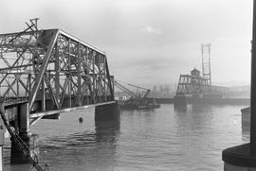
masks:
[[[42,82],[43,77],[45,75],[46,67],[47,67],[47,64],[48,64],[48,60],[50,59],[50,56],[51,56],[51,53],[52,53],[52,49],[53,49],[54,44],[56,43],[56,40],[58,38],[58,34],[59,34],[59,30],[58,29],[52,30],[52,37],[51,37],[49,45],[47,46],[47,51],[46,51],[45,59],[43,60],[42,66],[41,66],[40,71],[39,71],[39,73],[37,75],[38,77],[36,77],[36,80],[35,80],[34,86],[32,88],[31,94],[29,94],[29,97],[28,97],[28,111],[29,112],[32,109],[32,106],[34,104],[36,95],[38,93],[38,90],[40,88],[41,82]]]

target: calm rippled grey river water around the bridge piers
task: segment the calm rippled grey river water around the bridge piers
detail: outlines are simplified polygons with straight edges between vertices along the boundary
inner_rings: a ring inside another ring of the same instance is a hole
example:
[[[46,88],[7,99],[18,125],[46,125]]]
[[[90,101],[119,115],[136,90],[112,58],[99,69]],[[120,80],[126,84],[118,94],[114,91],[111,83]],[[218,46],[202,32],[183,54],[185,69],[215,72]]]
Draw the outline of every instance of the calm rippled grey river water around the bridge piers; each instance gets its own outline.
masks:
[[[121,111],[119,124],[95,124],[92,108],[41,120],[31,130],[40,135],[40,163],[49,170],[219,171],[222,150],[249,140],[241,125],[244,107],[174,110],[172,104],[161,105],[152,111]],[[4,170],[31,170],[28,164],[10,166],[9,148],[7,140]]]

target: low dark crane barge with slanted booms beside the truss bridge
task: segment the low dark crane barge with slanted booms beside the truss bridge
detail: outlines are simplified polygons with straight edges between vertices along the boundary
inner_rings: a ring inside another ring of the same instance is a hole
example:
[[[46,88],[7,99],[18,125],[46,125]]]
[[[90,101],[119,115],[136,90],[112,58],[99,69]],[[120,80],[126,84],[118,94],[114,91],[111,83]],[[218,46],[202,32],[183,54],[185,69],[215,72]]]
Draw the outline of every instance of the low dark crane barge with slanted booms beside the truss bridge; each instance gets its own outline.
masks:
[[[143,87],[138,87],[133,84],[129,84],[130,86],[136,87],[138,89],[142,89],[146,91],[146,94],[144,94],[143,97],[140,97],[140,94],[135,94],[128,88],[124,87],[122,84],[119,83],[119,81],[114,81],[115,86],[118,87],[120,90],[122,90],[124,93],[129,94],[131,97],[127,100],[119,101],[119,106],[121,109],[125,110],[147,110],[147,109],[155,109],[160,108],[160,105],[156,103],[154,98],[148,97],[148,94],[150,94],[150,89],[145,89]]]

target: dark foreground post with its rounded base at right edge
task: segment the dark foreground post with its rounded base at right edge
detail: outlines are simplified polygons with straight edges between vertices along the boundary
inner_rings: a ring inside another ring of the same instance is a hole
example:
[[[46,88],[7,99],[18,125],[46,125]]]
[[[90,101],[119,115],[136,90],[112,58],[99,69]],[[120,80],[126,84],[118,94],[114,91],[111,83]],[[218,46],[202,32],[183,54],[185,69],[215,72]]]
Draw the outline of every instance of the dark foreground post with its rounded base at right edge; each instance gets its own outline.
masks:
[[[251,48],[250,143],[222,152],[225,171],[256,171],[256,2],[253,1]]]

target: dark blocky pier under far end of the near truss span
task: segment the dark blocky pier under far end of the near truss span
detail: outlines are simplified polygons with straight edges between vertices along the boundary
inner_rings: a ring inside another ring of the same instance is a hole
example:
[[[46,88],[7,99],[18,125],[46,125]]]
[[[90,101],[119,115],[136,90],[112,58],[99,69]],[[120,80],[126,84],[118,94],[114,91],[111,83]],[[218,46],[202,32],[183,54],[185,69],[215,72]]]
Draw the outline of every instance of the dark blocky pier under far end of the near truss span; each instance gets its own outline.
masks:
[[[118,121],[119,122],[118,103],[101,105],[95,107],[95,122],[100,121]]]

